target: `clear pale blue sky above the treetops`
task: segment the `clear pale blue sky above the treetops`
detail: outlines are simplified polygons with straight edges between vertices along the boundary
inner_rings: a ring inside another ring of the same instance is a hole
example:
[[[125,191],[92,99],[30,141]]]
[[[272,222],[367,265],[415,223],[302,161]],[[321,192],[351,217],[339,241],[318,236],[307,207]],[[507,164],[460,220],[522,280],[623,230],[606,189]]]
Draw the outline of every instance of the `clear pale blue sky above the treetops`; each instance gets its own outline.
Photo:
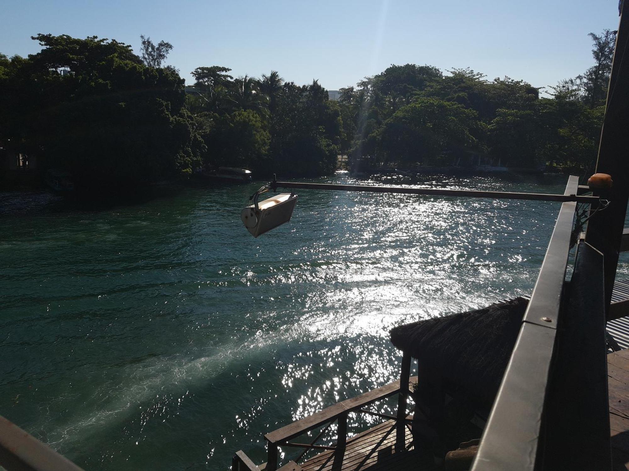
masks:
[[[114,38],[136,53],[143,34],[172,43],[167,63],[186,84],[194,68],[223,65],[330,90],[391,63],[555,85],[591,65],[587,33],[618,27],[617,0],[3,0],[1,11],[9,56],[37,52],[36,33]]]

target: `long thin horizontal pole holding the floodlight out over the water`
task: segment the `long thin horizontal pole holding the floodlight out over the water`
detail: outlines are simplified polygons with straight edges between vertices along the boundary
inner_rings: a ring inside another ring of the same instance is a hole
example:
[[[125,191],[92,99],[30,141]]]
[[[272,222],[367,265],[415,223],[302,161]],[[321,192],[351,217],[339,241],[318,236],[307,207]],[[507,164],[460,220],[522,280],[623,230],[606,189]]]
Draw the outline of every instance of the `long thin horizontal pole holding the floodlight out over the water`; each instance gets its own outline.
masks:
[[[503,200],[533,200],[557,201],[577,203],[596,203],[599,197],[574,195],[553,195],[547,193],[513,193],[513,192],[483,192],[479,190],[437,190],[435,188],[408,187],[376,187],[367,185],[333,185],[330,183],[294,183],[292,181],[270,181],[273,190],[277,188],[302,188],[304,190],[340,190],[343,192],[372,192],[372,193],[401,193],[404,195],[428,195],[444,197],[496,198]]]

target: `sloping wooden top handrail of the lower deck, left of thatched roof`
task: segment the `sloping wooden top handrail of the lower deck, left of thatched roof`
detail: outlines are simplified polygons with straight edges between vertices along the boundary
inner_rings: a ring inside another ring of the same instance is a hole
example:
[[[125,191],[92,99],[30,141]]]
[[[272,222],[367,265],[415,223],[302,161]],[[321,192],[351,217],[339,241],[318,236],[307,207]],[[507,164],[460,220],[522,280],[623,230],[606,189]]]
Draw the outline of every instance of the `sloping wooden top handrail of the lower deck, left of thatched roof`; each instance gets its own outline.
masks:
[[[410,381],[417,381],[417,377],[413,377]],[[340,403],[334,404],[322,411],[312,414],[311,416],[304,417],[301,420],[295,421],[282,428],[267,433],[264,438],[270,443],[280,443],[282,441],[291,440],[296,436],[306,433],[313,428],[317,428],[327,422],[336,420],[340,415],[346,412],[352,412],[358,410],[367,404],[386,399],[389,396],[397,394],[399,391],[399,381],[394,381],[386,386],[372,389],[367,393],[360,394],[355,398],[345,399]]]

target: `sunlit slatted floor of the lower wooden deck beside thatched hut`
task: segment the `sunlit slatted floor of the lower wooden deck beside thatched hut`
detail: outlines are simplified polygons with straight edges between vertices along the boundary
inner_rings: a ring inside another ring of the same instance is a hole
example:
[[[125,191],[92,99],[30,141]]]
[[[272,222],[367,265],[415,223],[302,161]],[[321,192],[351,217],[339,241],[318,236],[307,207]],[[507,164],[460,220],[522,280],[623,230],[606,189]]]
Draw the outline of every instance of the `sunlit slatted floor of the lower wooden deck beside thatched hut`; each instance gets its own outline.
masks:
[[[406,470],[419,469],[413,437],[406,427],[404,447],[396,448],[396,421],[352,436],[344,450],[330,450],[301,464],[304,471]]]

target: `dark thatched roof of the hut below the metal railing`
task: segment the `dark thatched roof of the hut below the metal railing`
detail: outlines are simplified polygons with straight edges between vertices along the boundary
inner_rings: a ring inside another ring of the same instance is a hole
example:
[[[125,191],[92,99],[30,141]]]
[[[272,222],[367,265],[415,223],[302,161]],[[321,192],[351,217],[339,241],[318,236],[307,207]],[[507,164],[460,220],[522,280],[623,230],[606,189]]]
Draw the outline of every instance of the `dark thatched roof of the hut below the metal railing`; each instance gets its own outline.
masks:
[[[395,327],[391,342],[456,389],[491,406],[511,357],[525,298]]]

